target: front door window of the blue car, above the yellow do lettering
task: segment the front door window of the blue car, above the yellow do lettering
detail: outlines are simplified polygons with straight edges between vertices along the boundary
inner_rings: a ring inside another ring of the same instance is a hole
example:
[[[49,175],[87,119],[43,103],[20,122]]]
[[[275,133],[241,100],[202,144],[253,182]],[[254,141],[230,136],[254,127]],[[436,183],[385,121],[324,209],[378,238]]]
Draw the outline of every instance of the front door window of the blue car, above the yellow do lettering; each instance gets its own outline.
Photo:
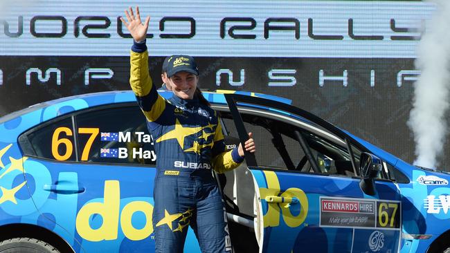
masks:
[[[255,111],[255,110],[253,110]],[[237,136],[237,131],[229,113],[221,113],[230,135]],[[352,167],[351,156],[345,142],[333,142],[330,136],[323,136],[299,127],[286,120],[266,118],[258,113],[241,113],[247,132],[253,133],[257,145],[255,153],[259,167],[271,169],[286,169],[289,171],[314,172],[306,156],[306,150],[300,144],[295,132],[298,131],[307,144],[314,162],[321,174],[336,174],[341,176],[357,176]],[[323,131],[323,129],[321,129]],[[332,135],[331,133],[327,133]],[[333,138],[336,138],[333,136]],[[338,138],[336,138],[337,140]],[[361,151],[352,147],[357,166]]]

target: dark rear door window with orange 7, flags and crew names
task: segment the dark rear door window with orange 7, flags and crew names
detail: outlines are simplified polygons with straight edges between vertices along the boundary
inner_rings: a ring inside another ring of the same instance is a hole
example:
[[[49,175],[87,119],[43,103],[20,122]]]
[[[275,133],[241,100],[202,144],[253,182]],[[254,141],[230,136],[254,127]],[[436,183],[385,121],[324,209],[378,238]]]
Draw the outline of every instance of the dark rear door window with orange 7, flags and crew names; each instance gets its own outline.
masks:
[[[81,161],[156,165],[154,142],[138,106],[76,116]]]

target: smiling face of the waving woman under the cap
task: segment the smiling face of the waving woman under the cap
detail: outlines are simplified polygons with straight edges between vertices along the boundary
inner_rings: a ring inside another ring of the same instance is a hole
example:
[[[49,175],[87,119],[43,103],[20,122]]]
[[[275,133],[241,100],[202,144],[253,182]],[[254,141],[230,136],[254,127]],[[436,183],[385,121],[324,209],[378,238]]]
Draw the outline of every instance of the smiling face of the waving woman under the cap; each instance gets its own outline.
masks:
[[[177,97],[180,97],[183,100],[192,100],[192,98],[194,98],[198,80],[197,75],[181,71],[172,75],[169,78],[169,83],[173,93],[177,95]]]

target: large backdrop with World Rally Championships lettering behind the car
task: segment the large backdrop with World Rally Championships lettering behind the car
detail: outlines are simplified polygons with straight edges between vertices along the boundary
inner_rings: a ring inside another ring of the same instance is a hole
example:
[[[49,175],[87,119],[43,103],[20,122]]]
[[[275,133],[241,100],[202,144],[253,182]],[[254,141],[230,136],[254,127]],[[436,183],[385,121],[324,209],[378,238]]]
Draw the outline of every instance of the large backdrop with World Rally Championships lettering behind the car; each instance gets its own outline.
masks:
[[[58,97],[129,89],[124,1],[18,1],[0,13],[0,116]],[[134,1],[151,15],[154,83],[165,56],[197,59],[201,88],[287,97],[413,162],[406,122],[422,1]],[[62,7],[64,6],[64,8]],[[105,7],[107,6],[107,7]],[[448,136],[448,135],[447,135]],[[450,137],[444,144],[450,153]],[[439,158],[450,170],[450,157]]]

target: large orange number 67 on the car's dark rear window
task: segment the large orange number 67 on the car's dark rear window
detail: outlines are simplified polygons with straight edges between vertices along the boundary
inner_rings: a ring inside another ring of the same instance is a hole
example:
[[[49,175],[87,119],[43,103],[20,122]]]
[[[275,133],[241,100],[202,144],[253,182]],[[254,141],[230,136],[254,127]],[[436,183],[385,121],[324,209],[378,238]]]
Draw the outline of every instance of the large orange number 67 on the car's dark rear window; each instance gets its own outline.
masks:
[[[89,140],[87,140],[86,145],[84,146],[84,149],[81,154],[81,160],[87,161],[87,158],[89,157],[89,152],[91,151],[91,147],[93,144],[93,141],[96,139],[98,133],[100,130],[98,128],[80,128],[78,129],[78,133],[80,134],[90,134]],[[72,130],[68,127],[58,127],[53,132],[52,138],[51,138],[51,153],[53,157],[56,160],[64,161],[69,159],[72,156],[73,153],[73,143],[68,138],[61,138],[60,134],[65,133],[66,136],[72,136]],[[66,152],[63,154],[60,154],[59,147],[60,145],[64,145],[66,147]]]

